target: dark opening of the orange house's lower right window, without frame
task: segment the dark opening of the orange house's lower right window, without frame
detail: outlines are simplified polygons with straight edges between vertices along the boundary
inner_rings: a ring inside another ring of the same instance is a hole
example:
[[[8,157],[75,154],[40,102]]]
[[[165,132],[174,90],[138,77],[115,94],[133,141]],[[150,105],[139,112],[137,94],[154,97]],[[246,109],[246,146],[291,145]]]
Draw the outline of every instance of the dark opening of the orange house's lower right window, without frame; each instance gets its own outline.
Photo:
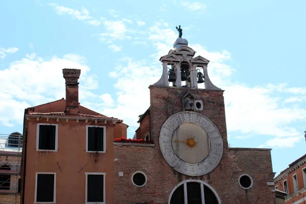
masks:
[[[104,175],[87,175],[87,202],[104,202]]]

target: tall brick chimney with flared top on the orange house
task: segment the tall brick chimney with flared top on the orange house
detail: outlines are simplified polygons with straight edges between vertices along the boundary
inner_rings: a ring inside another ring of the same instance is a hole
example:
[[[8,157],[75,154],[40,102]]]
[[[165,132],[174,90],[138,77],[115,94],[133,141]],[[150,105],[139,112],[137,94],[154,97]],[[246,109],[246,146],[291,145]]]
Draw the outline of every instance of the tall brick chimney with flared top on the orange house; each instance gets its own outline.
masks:
[[[66,109],[67,115],[79,114],[79,82],[80,69],[63,69],[63,77],[66,81]]]

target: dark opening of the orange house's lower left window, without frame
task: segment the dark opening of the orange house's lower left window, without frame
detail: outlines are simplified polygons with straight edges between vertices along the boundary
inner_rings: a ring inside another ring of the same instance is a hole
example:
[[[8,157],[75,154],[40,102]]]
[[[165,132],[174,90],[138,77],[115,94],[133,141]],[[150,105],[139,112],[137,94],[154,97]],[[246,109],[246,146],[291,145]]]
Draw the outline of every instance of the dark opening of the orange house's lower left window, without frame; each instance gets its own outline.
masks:
[[[36,202],[54,202],[55,174],[37,174]]]

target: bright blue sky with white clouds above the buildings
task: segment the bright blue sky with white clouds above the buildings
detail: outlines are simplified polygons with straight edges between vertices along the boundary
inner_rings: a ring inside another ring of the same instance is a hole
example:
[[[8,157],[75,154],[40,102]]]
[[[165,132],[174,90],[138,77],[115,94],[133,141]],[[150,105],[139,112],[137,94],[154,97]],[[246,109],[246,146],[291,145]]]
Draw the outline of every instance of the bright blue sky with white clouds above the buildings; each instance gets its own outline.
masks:
[[[149,108],[182,25],[224,91],[232,147],[272,148],[279,173],[305,154],[305,1],[2,1],[0,134],[22,133],[24,109],[65,97],[81,69],[81,105],[130,125]]]

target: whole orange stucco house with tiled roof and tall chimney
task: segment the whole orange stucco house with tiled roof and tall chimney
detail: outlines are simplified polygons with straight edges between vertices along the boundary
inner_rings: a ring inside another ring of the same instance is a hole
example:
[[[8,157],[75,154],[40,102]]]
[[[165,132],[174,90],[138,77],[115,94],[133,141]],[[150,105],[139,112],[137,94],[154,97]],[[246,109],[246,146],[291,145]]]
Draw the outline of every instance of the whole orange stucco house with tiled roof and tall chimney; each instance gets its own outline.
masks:
[[[63,69],[66,100],[25,109],[21,203],[114,199],[113,140],[127,125],[79,104],[80,73]]]

